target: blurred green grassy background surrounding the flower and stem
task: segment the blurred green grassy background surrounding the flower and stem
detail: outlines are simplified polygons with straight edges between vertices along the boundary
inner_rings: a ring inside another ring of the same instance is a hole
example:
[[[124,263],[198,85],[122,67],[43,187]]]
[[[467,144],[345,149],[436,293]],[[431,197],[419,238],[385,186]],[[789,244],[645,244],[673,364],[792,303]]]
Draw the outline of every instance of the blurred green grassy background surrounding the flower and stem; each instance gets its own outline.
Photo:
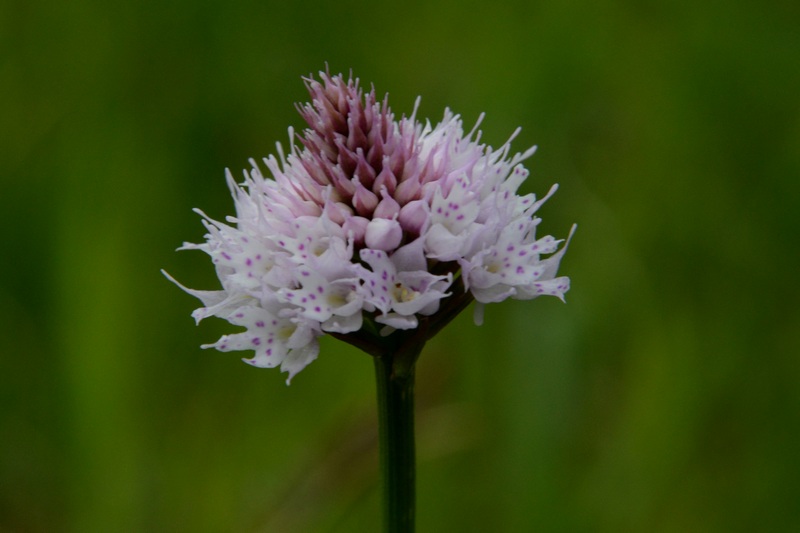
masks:
[[[376,531],[368,356],[199,345],[191,208],[302,126],[328,62],[532,144],[568,303],[419,364],[420,531],[800,531],[800,4],[0,7],[0,531]]]

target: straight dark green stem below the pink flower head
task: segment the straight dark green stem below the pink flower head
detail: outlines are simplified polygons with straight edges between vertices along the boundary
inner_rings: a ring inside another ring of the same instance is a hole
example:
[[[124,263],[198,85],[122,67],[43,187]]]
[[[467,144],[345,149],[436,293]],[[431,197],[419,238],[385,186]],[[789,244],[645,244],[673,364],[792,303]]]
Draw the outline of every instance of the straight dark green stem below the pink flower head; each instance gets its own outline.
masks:
[[[413,359],[419,355],[413,354]],[[378,433],[383,484],[383,531],[412,533],[415,514],[414,365],[395,372],[399,354],[373,357],[378,391]],[[408,357],[410,354],[402,354]]]

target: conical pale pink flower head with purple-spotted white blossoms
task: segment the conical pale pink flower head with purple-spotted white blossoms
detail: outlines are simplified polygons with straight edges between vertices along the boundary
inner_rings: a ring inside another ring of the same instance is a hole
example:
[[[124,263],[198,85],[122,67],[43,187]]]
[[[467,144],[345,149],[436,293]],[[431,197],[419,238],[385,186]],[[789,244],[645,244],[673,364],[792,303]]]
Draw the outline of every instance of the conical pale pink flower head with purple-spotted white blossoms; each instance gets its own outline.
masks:
[[[203,303],[195,320],[245,328],[204,347],[254,350],[248,363],[281,365],[290,380],[326,333],[411,330],[464,295],[478,322],[486,303],[563,299],[566,244],[536,237],[535,213],[556,186],[540,199],[517,194],[533,148],[509,155],[515,133],[492,149],[449,110],[435,126],[416,120],[416,106],[395,120],[357,79],[320,77],[305,79],[311,103],[298,105],[308,128],[289,130],[288,156],[278,144],[264,159],[271,178],[254,160],[241,184],[228,172],[236,216],[226,224],[198,211],[205,242],[180,248],[211,256],[222,283],[179,284]]]

